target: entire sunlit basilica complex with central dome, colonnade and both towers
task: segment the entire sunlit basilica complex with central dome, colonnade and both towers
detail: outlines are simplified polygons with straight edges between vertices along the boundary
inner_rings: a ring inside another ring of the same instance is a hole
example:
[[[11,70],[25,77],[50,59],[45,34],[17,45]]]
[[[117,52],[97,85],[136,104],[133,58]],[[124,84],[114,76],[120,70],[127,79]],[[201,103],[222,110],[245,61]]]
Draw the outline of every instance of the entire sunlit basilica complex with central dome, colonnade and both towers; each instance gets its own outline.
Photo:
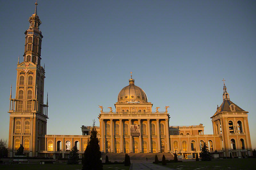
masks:
[[[10,92],[9,157],[15,156],[20,144],[29,157],[67,158],[70,149],[77,146],[80,158],[87,146],[91,126],[82,126],[82,135],[47,135],[48,95],[44,103],[45,70],[41,66],[42,24],[37,15],[29,17],[25,31],[25,52],[17,64],[15,96]],[[131,72],[132,74],[132,72]],[[223,79],[224,80],[224,79]],[[224,80],[225,81],[225,80]],[[223,82],[224,82],[223,81]],[[148,96],[135,80],[122,88],[114,104],[103,111],[99,106],[96,127],[102,153],[177,153],[180,159],[193,159],[204,143],[212,155],[218,157],[252,155],[248,126],[248,112],[229,98],[223,86],[223,102],[213,113],[213,135],[204,134],[203,124],[170,126],[168,107],[164,112],[153,108]],[[113,111],[115,110],[115,111]]]

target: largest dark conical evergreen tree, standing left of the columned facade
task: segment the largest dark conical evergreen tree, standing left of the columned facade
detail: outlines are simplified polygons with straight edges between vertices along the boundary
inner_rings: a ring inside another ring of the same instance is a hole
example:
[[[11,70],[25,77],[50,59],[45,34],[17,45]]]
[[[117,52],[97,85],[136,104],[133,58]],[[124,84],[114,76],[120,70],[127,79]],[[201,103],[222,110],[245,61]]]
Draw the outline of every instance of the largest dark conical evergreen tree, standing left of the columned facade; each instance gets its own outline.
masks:
[[[83,168],[82,170],[91,170],[91,169],[103,169],[102,161],[101,161],[101,152],[99,145],[99,138],[97,137],[97,130],[95,127],[95,120],[92,121],[92,130],[90,135],[90,140],[88,145],[84,151],[83,157]]]

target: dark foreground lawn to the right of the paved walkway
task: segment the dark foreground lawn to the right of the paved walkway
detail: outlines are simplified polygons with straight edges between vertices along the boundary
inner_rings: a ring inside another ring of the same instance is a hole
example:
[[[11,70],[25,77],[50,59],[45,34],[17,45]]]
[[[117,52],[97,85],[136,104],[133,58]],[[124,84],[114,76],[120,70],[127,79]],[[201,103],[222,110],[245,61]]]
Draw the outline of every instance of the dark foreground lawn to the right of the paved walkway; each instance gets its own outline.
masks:
[[[212,161],[188,161],[167,163],[167,167],[174,169],[256,169],[256,159],[221,159]]]

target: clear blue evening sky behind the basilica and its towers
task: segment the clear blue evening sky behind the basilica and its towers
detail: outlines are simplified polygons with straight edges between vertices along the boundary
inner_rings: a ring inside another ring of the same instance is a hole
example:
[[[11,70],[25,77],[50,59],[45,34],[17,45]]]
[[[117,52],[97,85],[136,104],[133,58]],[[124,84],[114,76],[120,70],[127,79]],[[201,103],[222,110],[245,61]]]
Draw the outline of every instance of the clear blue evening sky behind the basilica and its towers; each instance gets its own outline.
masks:
[[[0,1],[0,138],[8,138],[10,85],[15,96],[34,8],[35,0]],[[170,125],[203,123],[204,134],[213,133],[225,78],[230,100],[249,112],[256,147],[256,1],[38,0],[37,13],[47,134],[99,125],[98,105],[114,108],[132,71],[154,108],[170,106]]]

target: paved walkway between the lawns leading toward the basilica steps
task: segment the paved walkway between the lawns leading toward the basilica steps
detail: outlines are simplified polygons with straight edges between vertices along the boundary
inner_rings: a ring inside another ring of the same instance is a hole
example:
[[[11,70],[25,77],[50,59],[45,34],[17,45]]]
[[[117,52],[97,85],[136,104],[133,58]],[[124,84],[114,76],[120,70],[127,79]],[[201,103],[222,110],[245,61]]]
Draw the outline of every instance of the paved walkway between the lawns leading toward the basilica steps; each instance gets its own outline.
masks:
[[[168,167],[164,167],[164,166],[160,166],[160,165],[156,165],[156,164],[152,164],[152,163],[133,163],[130,166],[130,170],[170,170],[172,168],[168,168]],[[174,169],[173,169],[174,170]]]

